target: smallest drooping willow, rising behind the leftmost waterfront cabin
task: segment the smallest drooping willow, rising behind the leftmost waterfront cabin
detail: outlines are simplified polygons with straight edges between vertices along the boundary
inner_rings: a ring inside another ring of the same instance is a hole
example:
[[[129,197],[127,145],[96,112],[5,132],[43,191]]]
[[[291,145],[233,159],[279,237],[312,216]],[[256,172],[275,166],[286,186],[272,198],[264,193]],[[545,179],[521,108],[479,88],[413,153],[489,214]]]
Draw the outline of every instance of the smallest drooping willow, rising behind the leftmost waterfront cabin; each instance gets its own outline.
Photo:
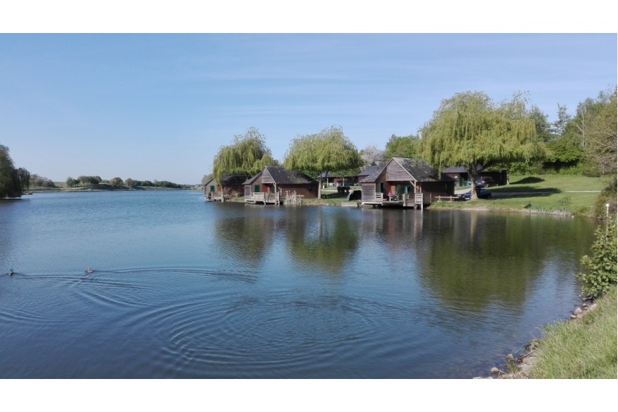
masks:
[[[231,145],[219,148],[213,160],[213,178],[218,183],[223,174],[242,174],[248,179],[264,166],[275,164],[277,161],[266,147],[266,138],[251,127],[244,135],[235,135]]]

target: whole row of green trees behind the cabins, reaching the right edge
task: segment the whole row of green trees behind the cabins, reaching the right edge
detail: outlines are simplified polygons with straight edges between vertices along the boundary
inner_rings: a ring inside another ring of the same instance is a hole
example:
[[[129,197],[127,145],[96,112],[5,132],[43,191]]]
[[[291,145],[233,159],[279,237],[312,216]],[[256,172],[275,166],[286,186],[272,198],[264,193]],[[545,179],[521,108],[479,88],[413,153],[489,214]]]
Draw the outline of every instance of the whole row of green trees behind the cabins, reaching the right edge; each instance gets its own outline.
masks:
[[[373,161],[391,157],[421,159],[439,170],[463,166],[473,178],[480,171],[504,168],[518,174],[615,174],[616,108],[614,88],[580,102],[574,116],[558,105],[558,120],[549,122],[548,114],[523,93],[494,102],[486,93],[468,91],[442,100],[418,133],[392,135],[383,149],[367,145],[358,150],[340,126],[331,126],[293,138],[280,162],[252,127],[219,149],[212,175],[218,182],[228,173],[250,178],[263,166],[282,164],[320,179],[327,171],[353,175]]]

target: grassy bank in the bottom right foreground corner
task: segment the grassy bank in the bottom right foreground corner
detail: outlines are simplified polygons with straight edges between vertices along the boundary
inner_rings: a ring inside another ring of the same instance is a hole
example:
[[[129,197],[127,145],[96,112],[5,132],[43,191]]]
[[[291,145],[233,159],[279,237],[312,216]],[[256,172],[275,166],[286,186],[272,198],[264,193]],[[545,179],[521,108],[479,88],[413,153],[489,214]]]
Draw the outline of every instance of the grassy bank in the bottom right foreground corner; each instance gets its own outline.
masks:
[[[597,307],[587,312],[584,319],[547,326],[530,378],[616,379],[616,305],[614,286],[597,300]]]

